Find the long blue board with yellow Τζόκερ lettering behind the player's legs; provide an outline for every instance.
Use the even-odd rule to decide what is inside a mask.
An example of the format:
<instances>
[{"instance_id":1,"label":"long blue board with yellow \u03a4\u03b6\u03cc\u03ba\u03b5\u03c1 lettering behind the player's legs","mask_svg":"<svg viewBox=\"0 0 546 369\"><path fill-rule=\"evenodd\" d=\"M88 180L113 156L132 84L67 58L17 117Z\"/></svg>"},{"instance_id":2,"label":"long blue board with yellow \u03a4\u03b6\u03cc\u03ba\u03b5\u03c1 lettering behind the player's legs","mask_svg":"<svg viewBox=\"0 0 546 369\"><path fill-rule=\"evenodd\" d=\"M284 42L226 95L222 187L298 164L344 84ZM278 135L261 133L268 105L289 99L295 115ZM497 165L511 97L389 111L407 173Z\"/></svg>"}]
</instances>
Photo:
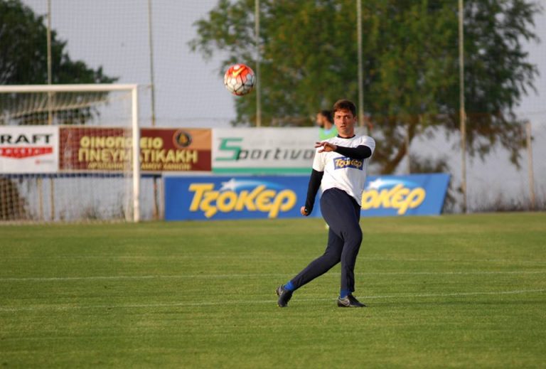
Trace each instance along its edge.
<instances>
[{"instance_id":1,"label":"long blue board with yellow \u03a4\u03b6\u03cc\u03ba\u03b5\u03c1 lettering behind the player's legs","mask_svg":"<svg viewBox=\"0 0 546 369\"><path fill-rule=\"evenodd\" d=\"M309 176L167 176L166 220L296 218ZM439 215L449 175L370 176L362 216ZM312 216L320 216L319 195Z\"/></svg>"}]
</instances>

